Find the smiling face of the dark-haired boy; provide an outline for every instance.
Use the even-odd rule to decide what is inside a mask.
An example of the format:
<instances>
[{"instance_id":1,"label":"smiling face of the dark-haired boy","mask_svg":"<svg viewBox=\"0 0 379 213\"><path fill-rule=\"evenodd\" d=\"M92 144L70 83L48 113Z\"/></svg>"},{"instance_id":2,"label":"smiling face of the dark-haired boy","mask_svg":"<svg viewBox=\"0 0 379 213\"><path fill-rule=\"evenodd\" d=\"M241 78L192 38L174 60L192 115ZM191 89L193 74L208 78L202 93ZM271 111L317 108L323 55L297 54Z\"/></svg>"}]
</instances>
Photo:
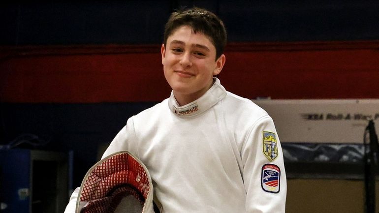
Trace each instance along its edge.
<instances>
[{"instance_id":1,"label":"smiling face of the dark-haired boy","mask_svg":"<svg viewBox=\"0 0 379 213\"><path fill-rule=\"evenodd\" d=\"M164 77L183 106L203 95L221 72L225 56L216 60L216 48L201 32L189 26L174 31L161 47Z\"/></svg>"}]
</instances>

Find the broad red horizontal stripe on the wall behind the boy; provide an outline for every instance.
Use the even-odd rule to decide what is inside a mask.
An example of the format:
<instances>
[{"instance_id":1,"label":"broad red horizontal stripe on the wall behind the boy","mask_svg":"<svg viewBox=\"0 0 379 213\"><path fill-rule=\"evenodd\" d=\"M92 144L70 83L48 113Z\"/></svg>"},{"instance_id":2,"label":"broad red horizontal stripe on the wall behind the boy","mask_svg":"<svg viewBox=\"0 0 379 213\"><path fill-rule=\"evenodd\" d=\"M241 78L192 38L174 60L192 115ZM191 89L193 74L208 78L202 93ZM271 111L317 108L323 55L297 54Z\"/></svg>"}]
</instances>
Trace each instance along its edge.
<instances>
[{"instance_id":1,"label":"broad red horizontal stripe on the wall behind the boy","mask_svg":"<svg viewBox=\"0 0 379 213\"><path fill-rule=\"evenodd\" d=\"M0 47L1 102L160 101L159 45ZM228 44L219 78L248 98L379 98L379 41Z\"/></svg>"}]
</instances>

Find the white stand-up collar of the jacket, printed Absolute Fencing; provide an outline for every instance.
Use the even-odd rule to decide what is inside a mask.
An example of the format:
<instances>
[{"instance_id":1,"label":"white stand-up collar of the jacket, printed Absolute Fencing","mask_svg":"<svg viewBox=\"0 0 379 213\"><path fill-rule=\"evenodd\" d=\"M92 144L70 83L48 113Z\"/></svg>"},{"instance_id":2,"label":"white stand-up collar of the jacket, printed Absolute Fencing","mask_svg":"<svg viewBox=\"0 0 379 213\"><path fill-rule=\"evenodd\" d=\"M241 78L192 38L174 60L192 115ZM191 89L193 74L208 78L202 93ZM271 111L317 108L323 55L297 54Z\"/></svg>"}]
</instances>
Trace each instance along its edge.
<instances>
[{"instance_id":1,"label":"white stand-up collar of the jacket, printed Absolute Fencing","mask_svg":"<svg viewBox=\"0 0 379 213\"><path fill-rule=\"evenodd\" d=\"M175 113L177 116L190 118L207 111L209 108L217 104L225 96L225 88L222 87L218 78L214 78L213 86L208 91L206 91L198 99L184 106L179 106L178 102L174 97L174 93L171 92L171 96L168 99L168 107L170 108L171 112Z\"/></svg>"}]
</instances>

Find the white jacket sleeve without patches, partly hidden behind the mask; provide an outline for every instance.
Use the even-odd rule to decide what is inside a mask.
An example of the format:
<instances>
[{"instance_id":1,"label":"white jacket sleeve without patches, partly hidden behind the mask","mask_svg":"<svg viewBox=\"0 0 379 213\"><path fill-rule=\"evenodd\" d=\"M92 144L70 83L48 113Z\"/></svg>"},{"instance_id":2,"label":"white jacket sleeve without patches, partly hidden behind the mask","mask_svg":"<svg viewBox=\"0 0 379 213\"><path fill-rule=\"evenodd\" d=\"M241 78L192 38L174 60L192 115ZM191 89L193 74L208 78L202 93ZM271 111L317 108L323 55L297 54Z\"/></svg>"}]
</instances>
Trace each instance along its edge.
<instances>
[{"instance_id":1,"label":"white jacket sleeve without patches, partly hidden behind the mask","mask_svg":"<svg viewBox=\"0 0 379 213\"><path fill-rule=\"evenodd\" d=\"M133 117L129 118L126 122L126 125L119 131L119 133L116 135L116 137L113 139L113 141L110 143L107 150L102 155L101 159L114 153L114 152L120 152L120 151L129 151L133 153L134 155L138 156L137 152L137 145L134 143L136 142L135 132L134 132L134 125L133 125ZM131 141L133 143L131 143ZM64 210L64 213L75 213L76 210L76 201L79 196L79 189L80 187L77 187L71 194L70 200L66 206L66 209Z\"/></svg>"}]
</instances>

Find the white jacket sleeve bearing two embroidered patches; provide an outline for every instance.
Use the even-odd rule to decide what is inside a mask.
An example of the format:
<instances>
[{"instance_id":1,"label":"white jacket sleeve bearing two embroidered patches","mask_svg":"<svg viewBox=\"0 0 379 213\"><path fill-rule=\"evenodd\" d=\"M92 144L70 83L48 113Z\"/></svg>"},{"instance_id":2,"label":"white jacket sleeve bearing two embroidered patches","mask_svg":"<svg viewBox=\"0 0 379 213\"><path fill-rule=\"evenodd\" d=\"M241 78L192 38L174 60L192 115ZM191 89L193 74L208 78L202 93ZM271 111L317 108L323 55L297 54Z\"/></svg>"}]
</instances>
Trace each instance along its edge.
<instances>
[{"instance_id":1,"label":"white jacket sleeve bearing two embroidered patches","mask_svg":"<svg viewBox=\"0 0 379 213\"><path fill-rule=\"evenodd\" d=\"M263 116L253 124L241 149L247 213L284 213L286 176L274 122Z\"/></svg>"}]
</instances>

